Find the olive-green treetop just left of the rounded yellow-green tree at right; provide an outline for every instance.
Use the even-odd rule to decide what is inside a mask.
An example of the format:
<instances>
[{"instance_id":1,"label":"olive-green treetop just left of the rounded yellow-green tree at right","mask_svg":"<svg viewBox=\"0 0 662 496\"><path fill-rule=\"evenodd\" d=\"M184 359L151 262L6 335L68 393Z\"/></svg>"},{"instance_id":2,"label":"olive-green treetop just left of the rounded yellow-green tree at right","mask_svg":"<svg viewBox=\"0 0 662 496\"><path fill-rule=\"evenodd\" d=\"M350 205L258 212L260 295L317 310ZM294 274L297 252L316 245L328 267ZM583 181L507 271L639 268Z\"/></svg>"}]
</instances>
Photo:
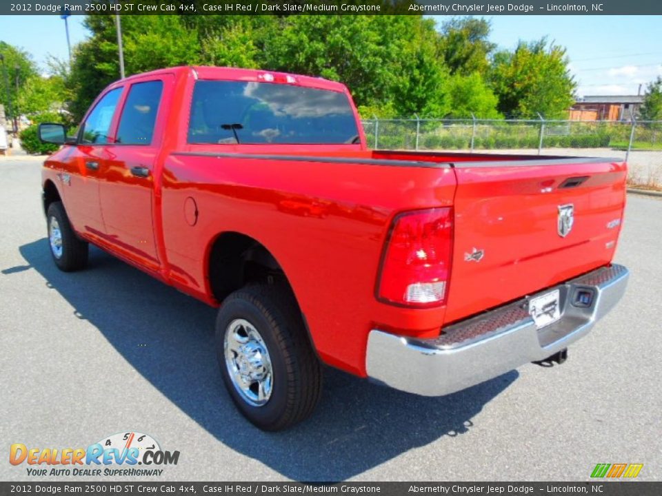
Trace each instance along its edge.
<instances>
[{"instance_id":1,"label":"olive-green treetop just left of the rounded yellow-green tree at right","mask_svg":"<svg viewBox=\"0 0 662 496\"><path fill-rule=\"evenodd\" d=\"M489 41L490 23L474 17L454 17L441 25L439 54L451 74L485 74L496 45Z\"/></svg>"}]
</instances>

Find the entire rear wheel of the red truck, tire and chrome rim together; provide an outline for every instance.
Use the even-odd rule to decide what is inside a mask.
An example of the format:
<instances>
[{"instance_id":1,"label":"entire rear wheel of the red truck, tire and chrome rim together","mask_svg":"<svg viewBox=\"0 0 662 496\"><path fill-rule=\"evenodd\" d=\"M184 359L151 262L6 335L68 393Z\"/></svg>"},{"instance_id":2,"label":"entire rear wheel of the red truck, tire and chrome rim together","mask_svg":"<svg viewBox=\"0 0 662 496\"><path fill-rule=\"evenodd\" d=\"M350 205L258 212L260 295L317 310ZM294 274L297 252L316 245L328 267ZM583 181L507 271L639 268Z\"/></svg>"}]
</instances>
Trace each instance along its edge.
<instances>
[{"instance_id":1,"label":"entire rear wheel of the red truck, tire and chrome rim together","mask_svg":"<svg viewBox=\"0 0 662 496\"><path fill-rule=\"evenodd\" d=\"M216 323L223 382L250 422L280 431L305 420L322 371L290 289L252 285L225 299Z\"/></svg>"}]
</instances>

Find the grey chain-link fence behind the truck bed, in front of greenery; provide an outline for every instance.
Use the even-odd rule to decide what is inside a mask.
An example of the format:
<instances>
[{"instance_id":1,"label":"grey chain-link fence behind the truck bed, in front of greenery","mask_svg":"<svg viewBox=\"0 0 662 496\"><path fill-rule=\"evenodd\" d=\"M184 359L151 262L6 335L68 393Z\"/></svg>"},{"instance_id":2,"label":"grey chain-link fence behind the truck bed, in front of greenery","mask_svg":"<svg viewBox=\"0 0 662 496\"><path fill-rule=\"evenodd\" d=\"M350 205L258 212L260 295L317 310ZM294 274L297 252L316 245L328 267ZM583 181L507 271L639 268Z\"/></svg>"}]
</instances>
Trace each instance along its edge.
<instances>
[{"instance_id":1,"label":"grey chain-link fence behind the truck bed, in front of greenery","mask_svg":"<svg viewBox=\"0 0 662 496\"><path fill-rule=\"evenodd\" d=\"M363 129L377 149L623 158L632 185L662 186L662 121L374 118Z\"/></svg>"}]
</instances>

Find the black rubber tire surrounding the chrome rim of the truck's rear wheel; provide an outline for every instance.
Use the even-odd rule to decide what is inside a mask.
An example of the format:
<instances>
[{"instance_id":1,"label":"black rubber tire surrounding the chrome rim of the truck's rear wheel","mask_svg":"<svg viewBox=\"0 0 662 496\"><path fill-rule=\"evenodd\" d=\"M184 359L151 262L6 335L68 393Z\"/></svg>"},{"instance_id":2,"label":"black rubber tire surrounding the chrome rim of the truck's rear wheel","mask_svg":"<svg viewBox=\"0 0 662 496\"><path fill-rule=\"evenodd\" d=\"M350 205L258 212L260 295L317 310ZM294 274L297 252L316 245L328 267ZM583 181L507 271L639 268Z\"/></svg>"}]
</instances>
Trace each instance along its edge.
<instances>
[{"instance_id":1,"label":"black rubber tire surrounding the chrome rim of the truck's rear wheel","mask_svg":"<svg viewBox=\"0 0 662 496\"><path fill-rule=\"evenodd\" d=\"M225 334L237 320L252 324L270 358L272 389L265 404L259 406L250 404L234 386L225 360ZM223 382L234 404L252 424L264 431L281 431L312 414L321 396L322 369L288 287L251 285L230 294L219 310L216 343Z\"/></svg>"}]
</instances>

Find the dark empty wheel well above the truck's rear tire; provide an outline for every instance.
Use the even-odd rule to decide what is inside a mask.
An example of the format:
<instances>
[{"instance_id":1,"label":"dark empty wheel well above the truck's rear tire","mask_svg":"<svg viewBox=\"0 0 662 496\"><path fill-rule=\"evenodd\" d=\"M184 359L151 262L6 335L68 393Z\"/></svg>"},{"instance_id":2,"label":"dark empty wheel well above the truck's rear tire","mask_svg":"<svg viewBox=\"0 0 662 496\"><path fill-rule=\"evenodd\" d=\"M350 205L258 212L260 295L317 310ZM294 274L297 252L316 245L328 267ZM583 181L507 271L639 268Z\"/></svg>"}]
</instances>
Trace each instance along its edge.
<instances>
[{"instance_id":1,"label":"dark empty wheel well above the truck's rear tire","mask_svg":"<svg viewBox=\"0 0 662 496\"><path fill-rule=\"evenodd\" d=\"M236 232L223 233L214 241L208 267L212 294L219 302L250 282L280 280L290 287L270 251L250 236Z\"/></svg>"}]
</instances>

